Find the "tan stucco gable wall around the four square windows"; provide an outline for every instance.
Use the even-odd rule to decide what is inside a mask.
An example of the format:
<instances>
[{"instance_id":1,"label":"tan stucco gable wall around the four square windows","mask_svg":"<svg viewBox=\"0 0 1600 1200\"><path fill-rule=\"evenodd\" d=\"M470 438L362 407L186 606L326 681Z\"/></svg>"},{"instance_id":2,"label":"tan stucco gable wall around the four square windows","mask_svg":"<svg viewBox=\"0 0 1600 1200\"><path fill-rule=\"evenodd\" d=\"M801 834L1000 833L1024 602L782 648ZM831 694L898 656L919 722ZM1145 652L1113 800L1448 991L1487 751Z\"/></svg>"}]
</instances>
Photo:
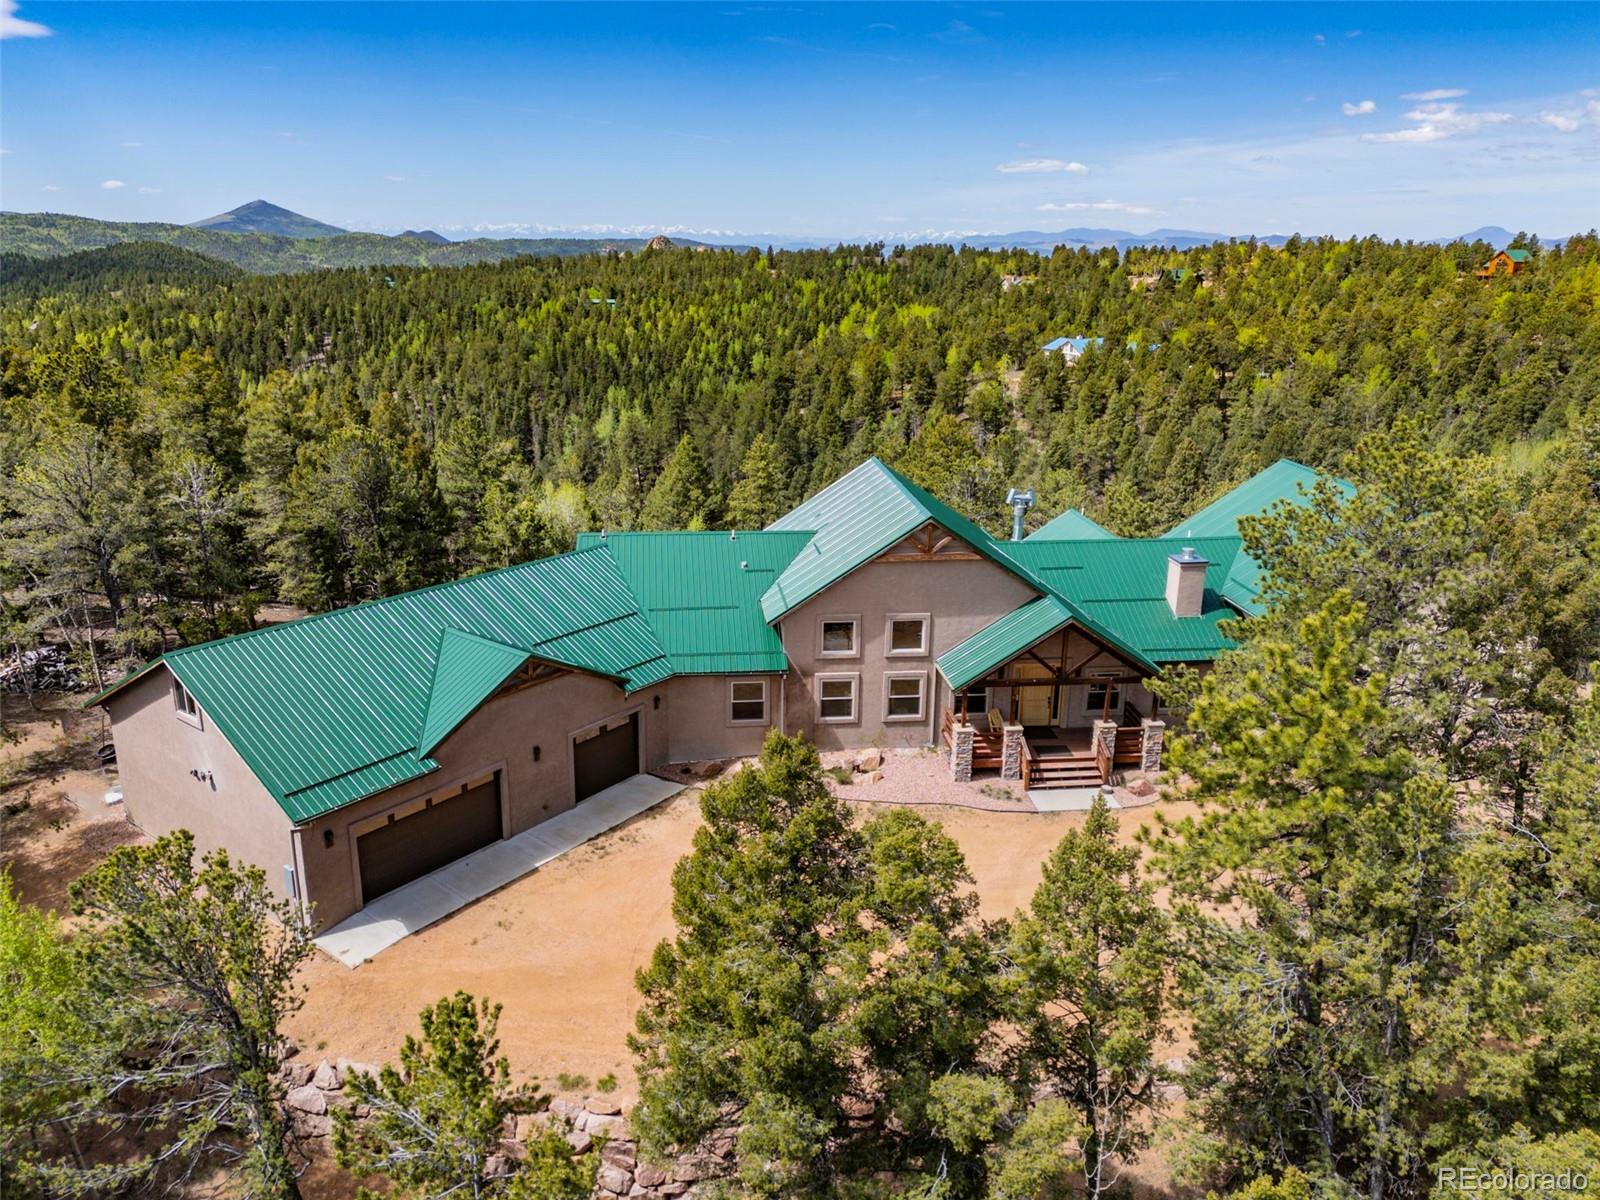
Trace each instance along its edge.
<instances>
[{"instance_id":1,"label":"tan stucco gable wall around the four square windows","mask_svg":"<svg viewBox=\"0 0 1600 1200\"><path fill-rule=\"evenodd\" d=\"M782 619L784 651L795 667L786 694L787 731L803 733L822 749L928 746L936 739L939 714L950 702L934 659L1034 595L1037 592L1032 587L987 558L864 563ZM926 654L885 654L891 613L930 614L933 629ZM859 656L842 659L818 654L821 621L827 616L859 616ZM926 712L918 722L883 718L883 677L885 672L898 670L928 672ZM818 720L818 672L859 672L858 717L853 723Z\"/></svg>"}]
</instances>

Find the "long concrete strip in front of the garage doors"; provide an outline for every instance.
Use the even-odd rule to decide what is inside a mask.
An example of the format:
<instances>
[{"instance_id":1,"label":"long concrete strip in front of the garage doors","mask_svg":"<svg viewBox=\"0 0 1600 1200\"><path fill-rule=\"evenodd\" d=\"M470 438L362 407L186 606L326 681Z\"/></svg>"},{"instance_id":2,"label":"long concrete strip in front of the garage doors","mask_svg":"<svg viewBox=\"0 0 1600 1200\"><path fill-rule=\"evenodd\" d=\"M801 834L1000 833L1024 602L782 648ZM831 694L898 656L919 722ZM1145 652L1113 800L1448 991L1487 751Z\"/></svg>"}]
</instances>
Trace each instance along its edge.
<instances>
[{"instance_id":1,"label":"long concrete strip in front of the garage doors","mask_svg":"<svg viewBox=\"0 0 1600 1200\"><path fill-rule=\"evenodd\" d=\"M541 821L533 829L475 850L379 896L320 934L315 942L346 966L360 966L402 938L504 888L682 790L680 782L635 774L603 792L595 792L576 808Z\"/></svg>"}]
</instances>

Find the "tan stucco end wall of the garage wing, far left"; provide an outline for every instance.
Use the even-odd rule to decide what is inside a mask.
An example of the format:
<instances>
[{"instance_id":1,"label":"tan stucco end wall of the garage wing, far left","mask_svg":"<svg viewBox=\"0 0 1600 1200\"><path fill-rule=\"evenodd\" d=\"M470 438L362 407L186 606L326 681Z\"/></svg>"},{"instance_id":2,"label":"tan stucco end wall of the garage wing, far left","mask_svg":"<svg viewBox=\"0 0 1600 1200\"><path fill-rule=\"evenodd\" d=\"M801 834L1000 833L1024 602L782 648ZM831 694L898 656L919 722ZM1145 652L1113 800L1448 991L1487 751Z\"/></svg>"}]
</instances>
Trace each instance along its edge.
<instances>
[{"instance_id":1,"label":"tan stucco end wall of the garage wing, far left","mask_svg":"<svg viewBox=\"0 0 1600 1200\"><path fill-rule=\"evenodd\" d=\"M198 728L178 715L171 672L157 667L106 709L130 819L152 837L187 829L198 851L227 850L286 896L283 867L294 861L288 816L203 710Z\"/></svg>"}]
</instances>

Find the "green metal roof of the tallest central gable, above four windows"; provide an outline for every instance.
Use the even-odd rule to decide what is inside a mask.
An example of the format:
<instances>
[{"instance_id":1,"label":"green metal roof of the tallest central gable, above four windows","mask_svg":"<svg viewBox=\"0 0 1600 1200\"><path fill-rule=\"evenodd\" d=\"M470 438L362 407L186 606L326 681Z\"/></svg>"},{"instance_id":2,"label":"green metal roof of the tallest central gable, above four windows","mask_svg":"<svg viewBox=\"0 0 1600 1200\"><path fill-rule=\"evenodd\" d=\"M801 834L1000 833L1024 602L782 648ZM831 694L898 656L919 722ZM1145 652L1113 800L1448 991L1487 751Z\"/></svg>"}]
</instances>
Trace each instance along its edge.
<instances>
[{"instance_id":1,"label":"green metal roof of the tallest central gable, above four windows","mask_svg":"<svg viewBox=\"0 0 1600 1200\"><path fill-rule=\"evenodd\" d=\"M762 614L768 621L778 621L926 522L936 522L990 562L1034 582L1027 570L1008 557L1003 547L1010 542L997 542L944 501L923 491L877 458L869 458L798 509L766 526L773 531L808 530L813 538L766 589L762 597Z\"/></svg>"}]
</instances>

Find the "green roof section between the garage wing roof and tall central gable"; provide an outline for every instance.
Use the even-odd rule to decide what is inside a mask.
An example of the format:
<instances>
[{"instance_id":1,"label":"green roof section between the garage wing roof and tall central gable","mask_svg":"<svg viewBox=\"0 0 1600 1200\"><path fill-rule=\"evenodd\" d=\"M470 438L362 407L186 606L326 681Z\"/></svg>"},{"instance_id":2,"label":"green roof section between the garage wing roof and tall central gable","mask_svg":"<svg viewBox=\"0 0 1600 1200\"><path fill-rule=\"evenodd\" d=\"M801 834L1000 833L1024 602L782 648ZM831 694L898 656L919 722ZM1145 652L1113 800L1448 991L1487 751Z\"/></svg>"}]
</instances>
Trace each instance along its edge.
<instances>
[{"instance_id":1,"label":"green roof section between the garage wing roof and tall central gable","mask_svg":"<svg viewBox=\"0 0 1600 1200\"><path fill-rule=\"evenodd\" d=\"M603 546L616 560L672 674L728 675L789 669L762 594L810 541L805 530L586 533L578 546Z\"/></svg>"}]
</instances>

